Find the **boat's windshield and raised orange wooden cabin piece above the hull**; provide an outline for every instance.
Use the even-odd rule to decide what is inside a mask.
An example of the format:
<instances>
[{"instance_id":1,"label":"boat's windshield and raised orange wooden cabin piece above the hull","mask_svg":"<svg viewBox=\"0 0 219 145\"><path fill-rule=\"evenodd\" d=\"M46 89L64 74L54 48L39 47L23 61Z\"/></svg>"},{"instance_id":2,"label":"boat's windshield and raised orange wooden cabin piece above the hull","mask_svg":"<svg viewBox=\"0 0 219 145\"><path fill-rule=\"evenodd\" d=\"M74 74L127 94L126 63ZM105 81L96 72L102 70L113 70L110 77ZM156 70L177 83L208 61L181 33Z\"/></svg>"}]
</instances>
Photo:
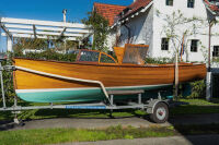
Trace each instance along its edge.
<instances>
[{"instance_id":1,"label":"boat's windshield and raised orange wooden cabin piece above the hull","mask_svg":"<svg viewBox=\"0 0 219 145\"><path fill-rule=\"evenodd\" d=\"M143 65L148 47L149 46L146 45L129 44L125 47L114 47L117 60L112 56L97 50L78 49L72 50L70 53L77 55L77 63Z\"/></svg>"}]
</instances>

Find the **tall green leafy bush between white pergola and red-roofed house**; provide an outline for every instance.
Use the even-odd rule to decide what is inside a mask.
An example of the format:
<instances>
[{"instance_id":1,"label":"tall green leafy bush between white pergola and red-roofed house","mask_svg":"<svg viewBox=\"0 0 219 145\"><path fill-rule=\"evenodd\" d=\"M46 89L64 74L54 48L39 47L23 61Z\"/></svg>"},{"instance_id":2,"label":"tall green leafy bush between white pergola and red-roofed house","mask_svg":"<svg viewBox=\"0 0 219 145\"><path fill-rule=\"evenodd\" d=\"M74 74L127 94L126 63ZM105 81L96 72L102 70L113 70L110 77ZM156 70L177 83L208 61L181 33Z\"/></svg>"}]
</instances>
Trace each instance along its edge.
<instances>
[{"instance_id":1,"label":"tall green leafy bush between white pergola and red-roofed house","mask_svg":"<svg viewBox=\"0 0 219 145\"><path fill-rule=\"evenodd\" d=\"M82 23L88 25L89 28L93 32L92 49L106 51L108 49L106 46L106 39L110 33L108 21L95 11L89 12L88 15L88 19L82 20Z\"/></svg>"}]
</instances>

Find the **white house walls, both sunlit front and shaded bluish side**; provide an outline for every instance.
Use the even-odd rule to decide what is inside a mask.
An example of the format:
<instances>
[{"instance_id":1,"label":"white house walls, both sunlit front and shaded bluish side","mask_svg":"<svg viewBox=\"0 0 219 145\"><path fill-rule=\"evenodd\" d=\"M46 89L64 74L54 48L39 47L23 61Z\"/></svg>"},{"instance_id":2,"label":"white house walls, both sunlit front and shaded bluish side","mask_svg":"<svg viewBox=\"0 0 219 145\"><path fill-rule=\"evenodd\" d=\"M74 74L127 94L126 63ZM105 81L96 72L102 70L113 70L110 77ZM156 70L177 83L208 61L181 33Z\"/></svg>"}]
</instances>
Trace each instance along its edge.
<instances>
[{"instance_id":1,"label":"white house walls, both sunlit front and shaded bluish side","mask_svg":"<svg viewBox=\"0 0 219 145\"><path fill-rule=\"evenodd\" d=\"M135 17L129 17L129 21L126 22L126 25L130 27L130 43L131 44L145 44L149 45L149 56L152 58L173 58L175 55L175 48L172 43L169 43L169 50L161 50L161 39L166 37L164 33L164 25L166 21L164 20L165 15L172 15L173 12L178 10L183 13L184 17L199 17L207 20L208 12L203 0L195 0L194 8L187 8L187 0L174 0L173 7L165 4L166 0L153 0L153 5L148 9L146 12L139 13ZM158 15L157 12L160 12ZM185 37L185 53L183 55L184 61L207 61L208 56L208 23L201 25L197 29L196 34ZM196 22L197 24L197 22ZM200 25L200 24L198 24ZM176 29L176 34L181 36L180 40L182 41L183 33L186 29L192 29L193 23L180 25ZM212 26L212 34L215 32L219 33L219 25ZM120 33L120 45L124 46L128 43L128 31L122 25L118 27ZM191 41L192 39L198 39L198 50L197 52L191 51ZM181 49L181 43L177 41L176 46ZM214 46L219 46L219 36L211 37L211 55Z\"/></svg>"}]
</instances>

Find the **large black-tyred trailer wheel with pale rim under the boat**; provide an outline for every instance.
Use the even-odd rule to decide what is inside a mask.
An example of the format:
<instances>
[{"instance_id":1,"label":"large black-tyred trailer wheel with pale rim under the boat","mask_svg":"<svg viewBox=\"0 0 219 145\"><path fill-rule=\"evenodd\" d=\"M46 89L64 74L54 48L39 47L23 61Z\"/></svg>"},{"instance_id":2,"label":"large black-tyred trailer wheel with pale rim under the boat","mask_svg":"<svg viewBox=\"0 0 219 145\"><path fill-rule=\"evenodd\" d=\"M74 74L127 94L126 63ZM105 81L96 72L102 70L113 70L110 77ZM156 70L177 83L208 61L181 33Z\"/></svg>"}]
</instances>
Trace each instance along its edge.
<instances>
[{"instance_id":1,"label":"large black-tyred trailer wheel with pale rim under the boat","mask_svg":"<svg viewBox=\"0 0 219 145\"><path fill-rule=\"evenodd\" d=\"M151 121L155 123L164 123L169 119L169 107L164 102L154 106L153 113L150 113Z\"/></svg>"}]
</instances>

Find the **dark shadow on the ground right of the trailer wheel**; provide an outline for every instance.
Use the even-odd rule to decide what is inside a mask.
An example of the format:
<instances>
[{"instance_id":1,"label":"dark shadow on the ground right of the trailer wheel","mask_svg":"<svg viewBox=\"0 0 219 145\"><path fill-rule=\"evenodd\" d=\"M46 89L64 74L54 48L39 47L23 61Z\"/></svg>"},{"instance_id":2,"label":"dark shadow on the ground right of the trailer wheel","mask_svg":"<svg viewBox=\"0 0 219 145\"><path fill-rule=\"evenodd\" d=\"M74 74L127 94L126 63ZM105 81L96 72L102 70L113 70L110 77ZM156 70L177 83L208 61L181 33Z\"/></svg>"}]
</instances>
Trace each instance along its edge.
<instances>
[{"instance_id":1,"label":"dark shadow on the ground right of the trailer wheel","mask_svg":"<svg viewBox=\"0 0 219 145\"><path fill-rule=\"evenodd\" d=\"M170 109L169 123L192 145L218 144L219 106L216 101L212 105L206 104L188 102ZM200 136L194 138L191 135Z\"/></svg>"}]
</instances>

